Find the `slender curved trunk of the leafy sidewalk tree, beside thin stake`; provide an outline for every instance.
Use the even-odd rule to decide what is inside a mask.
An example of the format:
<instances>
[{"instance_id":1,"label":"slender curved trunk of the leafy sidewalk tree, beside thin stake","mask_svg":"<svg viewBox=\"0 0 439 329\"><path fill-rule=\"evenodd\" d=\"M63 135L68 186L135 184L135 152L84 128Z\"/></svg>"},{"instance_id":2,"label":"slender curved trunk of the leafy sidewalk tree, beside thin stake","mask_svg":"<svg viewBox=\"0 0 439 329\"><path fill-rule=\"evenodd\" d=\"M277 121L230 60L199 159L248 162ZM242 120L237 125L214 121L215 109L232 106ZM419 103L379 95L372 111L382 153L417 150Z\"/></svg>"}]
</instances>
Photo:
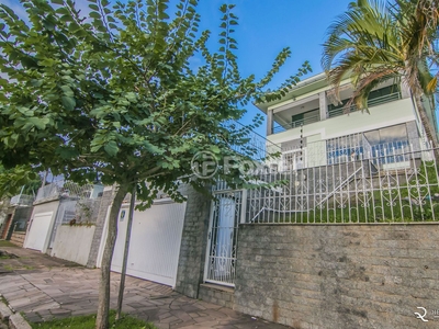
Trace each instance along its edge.
<instances>
[{"instance_id":1,"label":"slender curved trunk of the leafy sidewalk tree, beside thin stake","mask_svg":"<svg viewBox=\"0 0 439 329\"><path fill-rule=\"evenodd\" d=\"M106 236L105 247L103 249L101 277L99 281L99 305L97 315L97 329L109 328L109 310L110 310L110 269L113 258L114 245L117 237L117 217L122 202L128 191L127 185L120 185L111 205L109 216L109 232Z\"/></svg>"}]
</instances>

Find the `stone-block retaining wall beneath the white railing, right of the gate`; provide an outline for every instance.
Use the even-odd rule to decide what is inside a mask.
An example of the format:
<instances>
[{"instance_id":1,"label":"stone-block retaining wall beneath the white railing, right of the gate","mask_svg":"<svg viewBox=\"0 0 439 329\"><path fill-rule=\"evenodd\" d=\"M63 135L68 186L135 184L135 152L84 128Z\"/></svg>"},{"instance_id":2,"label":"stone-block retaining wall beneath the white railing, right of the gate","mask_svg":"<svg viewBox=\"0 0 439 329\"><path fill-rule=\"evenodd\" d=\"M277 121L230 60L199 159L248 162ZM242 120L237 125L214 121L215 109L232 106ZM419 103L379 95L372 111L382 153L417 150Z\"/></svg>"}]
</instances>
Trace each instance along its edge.
<instances>
[{"instance_id":1,"label":"stone-block retaining wall beneath the white railing, right of the gate","mask_svg":"<svg viewBox=\"0 0 439 329\"><path fill-rule=\"evenodd\" d=\"M234 308L292 328L438 328L438 247L436 224L243 225Z\"/></svg>"}]
</instances>

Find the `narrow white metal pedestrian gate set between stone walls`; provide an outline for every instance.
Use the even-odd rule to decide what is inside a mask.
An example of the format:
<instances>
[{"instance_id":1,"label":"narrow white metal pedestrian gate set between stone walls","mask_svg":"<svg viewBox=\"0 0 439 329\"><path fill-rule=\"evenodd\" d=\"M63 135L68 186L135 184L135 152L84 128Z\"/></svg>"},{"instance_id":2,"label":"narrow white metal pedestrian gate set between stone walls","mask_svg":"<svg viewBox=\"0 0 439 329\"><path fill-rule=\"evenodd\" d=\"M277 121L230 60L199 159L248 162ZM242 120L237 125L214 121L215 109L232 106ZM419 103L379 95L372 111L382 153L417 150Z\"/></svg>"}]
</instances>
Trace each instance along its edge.
<instances>
[{"instance_id":1,"label":"narrow white metal pedestrian gate set between stone walls","mask_svg":"<svg viewBox=\"0 0 439 329\"><path fill-rule=\"evenodd\" d=\"M204 281L234 286L239 219L245 213L243 191L215 193L209 228Z\"/></svg>"}]
</instances>

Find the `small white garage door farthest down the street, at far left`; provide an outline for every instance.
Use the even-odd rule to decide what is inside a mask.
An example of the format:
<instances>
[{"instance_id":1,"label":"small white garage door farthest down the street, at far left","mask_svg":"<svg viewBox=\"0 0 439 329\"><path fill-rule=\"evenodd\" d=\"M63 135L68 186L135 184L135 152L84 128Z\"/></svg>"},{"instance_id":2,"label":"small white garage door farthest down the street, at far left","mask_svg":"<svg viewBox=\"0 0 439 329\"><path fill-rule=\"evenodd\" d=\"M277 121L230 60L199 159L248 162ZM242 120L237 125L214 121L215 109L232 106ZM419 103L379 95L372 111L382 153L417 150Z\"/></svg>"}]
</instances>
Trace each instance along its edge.
<instances>
[{"instance_id":1,"label":"small white garage door farthest down the street, at far left","mask_svg":"<svg viewBox=\"0 0 439 329\"><path fill-rule=\"evenodd\" d=\"M32 219L24 248L42 251L49 234L54 212L35 214Z\"/></svg>"}]
</instances>

